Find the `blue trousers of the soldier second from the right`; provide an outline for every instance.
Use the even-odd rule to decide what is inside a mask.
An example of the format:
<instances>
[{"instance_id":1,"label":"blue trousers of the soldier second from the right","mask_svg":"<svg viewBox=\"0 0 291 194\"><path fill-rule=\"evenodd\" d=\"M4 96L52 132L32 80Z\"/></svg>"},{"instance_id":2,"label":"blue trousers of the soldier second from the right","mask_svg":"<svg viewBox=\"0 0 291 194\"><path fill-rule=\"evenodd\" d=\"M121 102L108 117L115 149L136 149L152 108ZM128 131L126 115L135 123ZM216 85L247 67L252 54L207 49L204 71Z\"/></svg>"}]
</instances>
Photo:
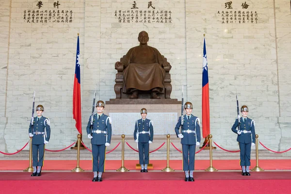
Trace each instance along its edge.
<instances>
[{"instance_id":1,"label":"blue trousers of the soldier second from the right","mask_svg":"<svg viewBox=\"0 0 291 194\"><path fill-rule=\"evenodd\" d=\"M195 144L193 145L182 144L183 171L194 170L195 148L196 148ZM189 162L188 162L188 156L189 156Z\"/></svg>"}]
</instances>

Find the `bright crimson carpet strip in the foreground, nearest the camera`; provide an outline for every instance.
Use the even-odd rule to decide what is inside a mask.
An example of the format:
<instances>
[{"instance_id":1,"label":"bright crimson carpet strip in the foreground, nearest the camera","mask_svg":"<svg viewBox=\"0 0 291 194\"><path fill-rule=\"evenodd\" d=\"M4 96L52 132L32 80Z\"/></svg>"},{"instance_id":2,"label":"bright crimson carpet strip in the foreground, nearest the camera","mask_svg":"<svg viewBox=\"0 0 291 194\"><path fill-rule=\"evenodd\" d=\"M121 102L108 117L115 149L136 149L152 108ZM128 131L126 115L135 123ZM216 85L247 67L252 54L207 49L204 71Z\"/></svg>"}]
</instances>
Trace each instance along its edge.
<instances>
[{"instance_id":1,"label":"bright crimson carpet strip in the foreground, nearest the camera","mask_svg":"<svg viewBox=\"0 0 291 194\"><path fill-rule=\"evenodd\" d=\"M2 180L0 194L283 194L290 180ZM37 182L38 183L38 182Z\"/></svg>"}]
</instances>

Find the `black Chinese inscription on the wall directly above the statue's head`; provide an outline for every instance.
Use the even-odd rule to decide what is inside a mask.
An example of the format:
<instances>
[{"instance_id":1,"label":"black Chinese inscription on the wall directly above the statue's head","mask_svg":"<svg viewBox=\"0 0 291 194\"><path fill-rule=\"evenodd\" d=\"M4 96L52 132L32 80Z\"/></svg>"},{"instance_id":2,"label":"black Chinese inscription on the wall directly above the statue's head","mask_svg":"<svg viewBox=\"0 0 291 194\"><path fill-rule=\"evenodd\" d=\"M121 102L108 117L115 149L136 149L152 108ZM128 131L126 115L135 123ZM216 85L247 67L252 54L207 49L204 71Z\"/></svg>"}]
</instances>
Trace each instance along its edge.
<instances>
[{"instance_id":1,"label":"black Chinese inscription on the wall directly above the statue's head","mask_svg":"<svg viewBox=\"0 0 291 194\"><path fill-rule=\"evenodd\" d=\"M172 12L156 10L152 1L148 2L147 10L140 10L133 1L130 10L115 10L114 16L119 23L172 23Z\"/></svg>"}]
</instances>

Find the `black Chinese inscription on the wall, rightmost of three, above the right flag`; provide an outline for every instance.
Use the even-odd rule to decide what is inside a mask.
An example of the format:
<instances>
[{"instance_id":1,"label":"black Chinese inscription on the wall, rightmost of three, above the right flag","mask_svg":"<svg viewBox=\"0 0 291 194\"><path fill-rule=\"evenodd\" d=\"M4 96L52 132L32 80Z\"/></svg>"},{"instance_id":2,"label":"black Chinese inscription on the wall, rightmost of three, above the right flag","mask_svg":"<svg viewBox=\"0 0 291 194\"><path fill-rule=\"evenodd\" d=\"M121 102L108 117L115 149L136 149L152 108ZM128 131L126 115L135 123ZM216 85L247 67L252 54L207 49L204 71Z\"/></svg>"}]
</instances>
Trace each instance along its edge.
<instances>
[{"instance_id":1,"label":"black Chinese inscription on the wall, rightmost of three, above the right flag","mask_svg":"<svg viewBox=\"0 0 291 194\"><path fill-rule=\"evenodd\" d=\"M244 1L241 5L242 10L233 10L232 1L225 3L225 9L223 11L218 11L217 14L221 15L223 24L229 23L258 23L258 13L257 11L248 11L249 5Z\"/></svg>"}]
</instances>

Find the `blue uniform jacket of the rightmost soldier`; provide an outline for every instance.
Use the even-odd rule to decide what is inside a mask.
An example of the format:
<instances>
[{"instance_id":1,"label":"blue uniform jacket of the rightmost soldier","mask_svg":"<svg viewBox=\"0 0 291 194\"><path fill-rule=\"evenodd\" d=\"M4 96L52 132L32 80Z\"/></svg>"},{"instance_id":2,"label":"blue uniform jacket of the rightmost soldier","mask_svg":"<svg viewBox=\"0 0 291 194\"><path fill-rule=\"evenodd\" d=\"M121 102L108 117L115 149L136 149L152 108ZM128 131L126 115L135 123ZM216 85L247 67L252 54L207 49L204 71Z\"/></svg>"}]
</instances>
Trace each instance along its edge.
<instances>
[{"instance_id":1,"label":"blue uniform jacket of the rightmost soldier","mask_svg":"<svg viewBox=\"0 0 291 194\"><path fill-rule=\"evenodd\" d=\"M249 144L249 143L255 143L255 121L250 119L250 118L246 118L246 121L243 122L243 119L240 118L241 120L241 131L242 133L240 135L238 135L237 141L240 143L244 143L244 144ZM238 132L238 127L239 122L238 119L235 120L231 130L233 132L235 132L237 134Z\"/></svg>"}]
</instances>

